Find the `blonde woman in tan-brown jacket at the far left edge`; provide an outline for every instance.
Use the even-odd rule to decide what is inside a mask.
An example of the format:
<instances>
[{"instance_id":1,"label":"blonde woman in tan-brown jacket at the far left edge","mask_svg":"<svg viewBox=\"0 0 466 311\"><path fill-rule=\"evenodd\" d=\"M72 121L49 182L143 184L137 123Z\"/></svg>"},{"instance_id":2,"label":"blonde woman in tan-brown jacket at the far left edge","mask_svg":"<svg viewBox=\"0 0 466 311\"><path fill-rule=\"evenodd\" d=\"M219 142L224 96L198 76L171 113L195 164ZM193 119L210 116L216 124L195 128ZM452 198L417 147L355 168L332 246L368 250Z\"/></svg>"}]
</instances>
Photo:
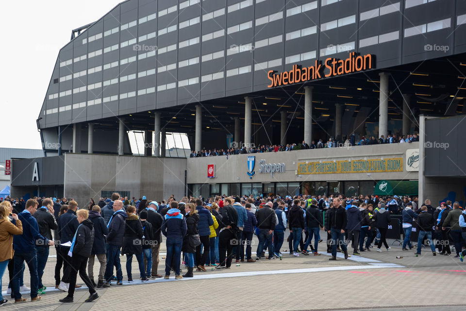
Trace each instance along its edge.
<instances>
[{"instance_id":1,"label":"blonde woman in tan-brown jacket at the far left edge","mask_svg":"<svg viewBox=\"0 0 466 311\"><path fill-rule=\"evenodd\" d=\"M10 259L13 258L13 235L23 234L23 225L21 221L18 220L18 215L11 215L15 220L15 224L10 220L10 209L10 202L2 202L0 204L0 289L3 273ZM3 295L0 291L0 306L7 302L8 300L3 299Z\"/></svg>"}]
</instances>

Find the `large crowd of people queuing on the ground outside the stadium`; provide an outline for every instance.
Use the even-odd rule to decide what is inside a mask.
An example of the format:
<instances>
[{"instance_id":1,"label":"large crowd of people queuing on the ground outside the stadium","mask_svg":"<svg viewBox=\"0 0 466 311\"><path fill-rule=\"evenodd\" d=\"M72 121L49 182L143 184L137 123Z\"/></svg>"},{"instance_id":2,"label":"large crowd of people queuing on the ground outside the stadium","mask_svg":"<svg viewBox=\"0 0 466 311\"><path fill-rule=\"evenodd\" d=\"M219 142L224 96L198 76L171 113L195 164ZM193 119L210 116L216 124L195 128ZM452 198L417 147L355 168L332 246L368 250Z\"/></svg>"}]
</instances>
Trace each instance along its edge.
<instances>
[{"instance_id":1,"label":"large crowd of people queuing on the ground outside the stadium","mask_svg":"<svg viewBox=\"0 0 466 311\"><path fill-rule=\"evenodd\" d=\"M145 196L129 200L113 193L111 198L91 199L78 208L73 199L33 198L24 203L7 197L0 203L0 281L9 272L8 294L15 303L27 301L21 292L30 291L31 301L46 293L42 282L50 246L57 261L54 269L55 288L67 292L60 302L73 302L77 275L88 288L86 302L99 297L96 288L122 285L120 256L126 255L126 275L133 282L133 255L138 262L141 282L164 277L194 277L194 271L206 267L229 269L233 260L255 262L282 258L285 233L289 253L320 256L320 231L327 233L329 260L337 260L337 252L349 257L371 251L373 246L389 250L386 242L393 215L400 214L405 232L403 250L412 249L412 227L419 231L416 255L424 240L433 255L451 254L450 240L457 258L463 261L466 250L466 212L458 202L444 202L434 208L429 200L419 207L417 198L398 196L213 196L183 197L179 202L171 196L160 204ZM13 204L12 204L13 203ZM53 236L52 236L53 232ZM258 237L255 259L252 238ZM162 235L166 240L164 276L158 273ZM433 242L433 237L435 242ZM313 242L314 239L314 242ZM375 244L373 242L375 240ZM308 250L310 248L310 250ZM266 250L268 249L268 255ZM121 255L120 255L121 253ZM94 278L97 257L99 273ZM31 276L31 288L24 285L25 263ZM186 273L182 273L182 264ZM115 269L114 269L115 268ZM63 273L62 273L63 271ZM112 283L114 282L114 283ZM1 288L1 283L0 283ZM8 300L0 292L0 305Z\"/></svg>"}]
</instances>

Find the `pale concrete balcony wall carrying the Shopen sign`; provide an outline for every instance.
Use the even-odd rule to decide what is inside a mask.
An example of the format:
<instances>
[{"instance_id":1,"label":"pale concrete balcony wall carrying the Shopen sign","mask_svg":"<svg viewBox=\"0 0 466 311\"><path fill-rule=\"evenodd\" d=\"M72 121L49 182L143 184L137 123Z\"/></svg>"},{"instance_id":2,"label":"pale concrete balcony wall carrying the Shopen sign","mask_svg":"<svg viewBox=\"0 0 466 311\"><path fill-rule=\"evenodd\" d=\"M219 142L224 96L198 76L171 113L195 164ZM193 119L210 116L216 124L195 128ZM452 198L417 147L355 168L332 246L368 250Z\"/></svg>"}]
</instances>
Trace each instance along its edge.
<instances>
[{"instance_id":1,"label":"pale concrete balcony wall carrying the Shopen sign","mask_svg":"<svg viewBox=\"0 0 466 311\"><path fill-rule=\"evenodd\" d=\"M354 146L340 148L324 148L313 150L283 151L255 155L255 175L250 178L248 171L248 155L226 155L188 158L187 183L243 183L243 182L303 182L303 181L344 181L344 180L408 180L418 179L418 172L406 171L406 150L419 148L419 143L397 143L370 146ZM339 161L372 158L403 158L403 172L394 173L329 173L298 175L298 163L305 161ZM259 173L259 163L262 159L266 164L284 163L284 173ZM207 165L215 164L216 178L207 178Z\"/></svg>"}]
</instances>

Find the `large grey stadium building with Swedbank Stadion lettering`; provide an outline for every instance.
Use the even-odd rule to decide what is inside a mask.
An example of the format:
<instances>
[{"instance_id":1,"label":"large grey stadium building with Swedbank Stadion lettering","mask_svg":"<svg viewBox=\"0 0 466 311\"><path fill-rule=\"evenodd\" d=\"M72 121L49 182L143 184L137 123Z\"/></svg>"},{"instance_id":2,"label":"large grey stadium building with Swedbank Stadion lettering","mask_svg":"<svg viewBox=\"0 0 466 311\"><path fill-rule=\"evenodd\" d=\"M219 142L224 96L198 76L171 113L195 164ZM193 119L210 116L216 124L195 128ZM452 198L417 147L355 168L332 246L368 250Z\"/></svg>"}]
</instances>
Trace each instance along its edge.
<instances>
[{"instance_id":1,"label":"large grey stadium building with Swedbank Stadion lettering","mask_svg":"<svg viewBox=\"0 0 466 311\"><path fill-rule=\"evenodd\" d=\"M124 1L59 51L37 119L47 156L13 161L12 194L368 194L381 181L419 181L404 188L465 200L454 158L465 30L464 0ZM144 133L145 156L133 132ZM195 151L352 133L419 142L174 159L167 133ZM264 174L250 175L251 162ZM31 178L36 165L50 176Z\"/></svg>"}]
</instances>

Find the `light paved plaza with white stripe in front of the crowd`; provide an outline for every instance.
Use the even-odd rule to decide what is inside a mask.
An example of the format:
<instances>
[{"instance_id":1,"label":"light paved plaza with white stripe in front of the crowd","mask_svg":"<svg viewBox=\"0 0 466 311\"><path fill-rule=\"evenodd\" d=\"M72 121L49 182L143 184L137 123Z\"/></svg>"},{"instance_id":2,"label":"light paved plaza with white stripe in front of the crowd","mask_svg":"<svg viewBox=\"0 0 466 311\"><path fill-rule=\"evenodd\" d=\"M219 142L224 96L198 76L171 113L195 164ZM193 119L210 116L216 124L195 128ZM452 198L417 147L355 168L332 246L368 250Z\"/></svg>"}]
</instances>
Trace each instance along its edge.
<instances>
[{"instance_id":1,"label":"light paved plaza with white stripe in front of the crowd","mask_svg":"<svg viewBox=\"0 0 466 311\"><path fill-rule=\"evenodd\" d=\"M326 237L321 231L321 236ZM286 235L285 235L286 236ZM165 239L164 239L165 241ZM257 245L257 239L253 242ZM389 240L391 244L393 240ZM282 247L283 260L259 260L254 263L232 264L230 270L195 272L194 278L175 280L156 279L140 284L126 282L126 257L121 256L123 286L98 289L100 298L84 303L88 292L75 292L74 303L58 301L65 293L54 289L54 250L44 273L47 294L39 302L10 303L8 310L465 310L461 293L466 277L466 263L448 256L432 256L424 248L416 257L415 251L402 251L398 242L390 251L382 253L372 248L361 256L348 260L329 261L325 240L319 244L321 256L299 258L288 254L288 244ZM255 246L253 246L253 251ZM285 252L286 250L286 252ZM323 253L322 253L323 252ZM158 272L164 275L165 244L162 244ZM350 252L351 254L351 252ZM403 258L398 259L397 256ZM253 256L255 258L255 256ZM139 273L133 259L133 278ZM183 269L185 271L185 269ZM183 272L184 272L183 271ZM8 283L3 276L3 293ZM95 267L95 278L98 270ZM27 269L24 275L29 286ZM97 279L96 279L97 280ZM83 282L78 277L78 284ZM84 287L84 286L83 286ZM50 289L50 290L49 290ZM28 298L29 294L24 294Z\"/></svg>"}]
</instances>

